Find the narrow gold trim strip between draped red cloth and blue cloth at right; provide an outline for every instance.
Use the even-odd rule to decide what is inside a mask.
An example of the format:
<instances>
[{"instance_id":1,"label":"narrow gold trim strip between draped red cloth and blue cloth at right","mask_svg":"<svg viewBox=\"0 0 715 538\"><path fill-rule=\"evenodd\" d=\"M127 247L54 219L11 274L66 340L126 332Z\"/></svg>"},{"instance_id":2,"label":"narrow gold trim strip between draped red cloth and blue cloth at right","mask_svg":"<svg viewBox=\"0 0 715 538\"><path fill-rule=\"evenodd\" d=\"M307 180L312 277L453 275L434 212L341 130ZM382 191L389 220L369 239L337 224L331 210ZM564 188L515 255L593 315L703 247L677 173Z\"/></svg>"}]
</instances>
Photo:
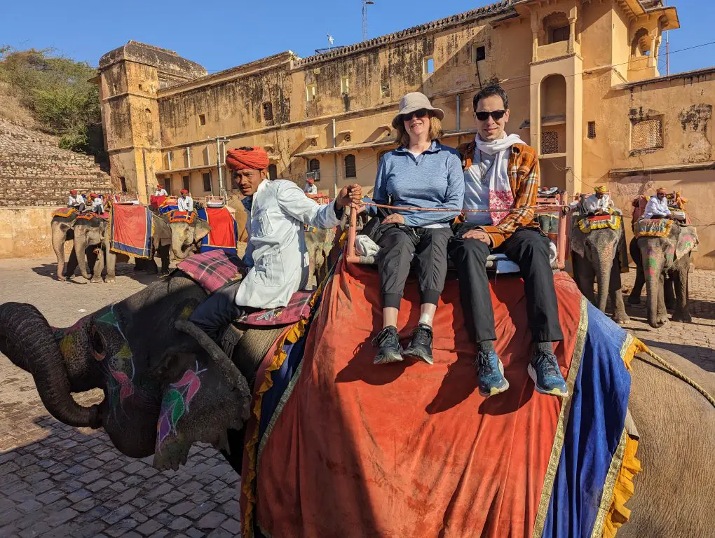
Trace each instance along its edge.
<instances>
[{"instance_id":1,"label":"narrow gold trim strip between draped red cloth and blue cloth at right","mask_svg":"<svg viewBox=\"0 0 715 538\"><path fill-rule=\"evenodd\" d=\"M543 526L546 524L546 514L548 505L551 502L551 494L553 493L553 480L556 478L558 470L558 460L561 459L561 450L563 449L563 439L566 435L566 424L568 424L568 415L571 412L571 397L573 396L573 385L576 384L578 370L581 368L581 358L583 357L583 346L586 344L586 332L588 330L588 299L581 296L581 317L578 320L578 331L576 332L576 347L573 348L573 356L571 357L571 366L568 368L568 378L566 385L568 386L568 397L563 399L561 403L561 412L558 415L558 424L556 426L556 436L553 439L553 447L551 447L551 457L548 459L548 467L546 467L546 477L543 479L543 489L541 489L541 499L539 500L538 511L536 512L536 521L531 536L533 538L541 538L543 535Z\"/></svg>"}]
</instances>

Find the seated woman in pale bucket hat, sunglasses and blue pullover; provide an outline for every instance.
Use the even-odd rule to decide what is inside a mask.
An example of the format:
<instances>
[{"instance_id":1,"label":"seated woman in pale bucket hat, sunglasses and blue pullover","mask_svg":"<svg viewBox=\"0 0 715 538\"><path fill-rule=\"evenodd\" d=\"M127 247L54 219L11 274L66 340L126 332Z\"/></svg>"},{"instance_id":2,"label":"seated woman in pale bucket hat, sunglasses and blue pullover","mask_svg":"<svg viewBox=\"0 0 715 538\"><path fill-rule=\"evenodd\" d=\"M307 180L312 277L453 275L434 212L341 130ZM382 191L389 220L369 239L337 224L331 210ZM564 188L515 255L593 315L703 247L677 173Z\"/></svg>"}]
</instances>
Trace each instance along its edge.
<instances>
[{"instance_id":1,"label":"seated woman in pale bucket hat, sunglasses and blue pullover","mask_svg":"<svg viewBox=\"0 0 715 538\"><path fill-rule=\"evenodd\" d=\"M376 203L453 211L378 211L383 330L373 340L380 349L375 364L403 360L397 321L413 256L418 266L420 322L404 354L433 362L432 321L447 274L450 221L460 214L464 196L459 154L438 140L443 118L444 111L432 106L424 94L405 95L393 119L400 147L380 160Z\"/></svg>"}]
</instances>

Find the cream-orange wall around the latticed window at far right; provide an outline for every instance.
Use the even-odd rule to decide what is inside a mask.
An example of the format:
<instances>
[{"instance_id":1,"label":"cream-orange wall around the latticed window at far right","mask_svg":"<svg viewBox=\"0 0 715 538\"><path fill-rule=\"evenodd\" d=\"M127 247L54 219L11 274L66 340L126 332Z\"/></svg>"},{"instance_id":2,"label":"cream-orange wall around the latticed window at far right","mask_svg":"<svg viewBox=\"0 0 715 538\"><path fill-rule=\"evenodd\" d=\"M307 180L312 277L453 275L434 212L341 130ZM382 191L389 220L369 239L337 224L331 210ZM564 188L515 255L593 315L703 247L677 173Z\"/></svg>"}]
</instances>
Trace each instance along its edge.
<instances>
[{"instance_id":1,"label":"cream-orange wall around the latticed window at far right","mask_svg":"<svg viewBox=\"0 0 715 538\"><path fill-rule=\"evenodd\" d=\"M715 209L711 203L715 171L658 173L659 167L707 164L715 160L715 74L611 90L610 76L592 76L584 84L588 103L583 131L583 190L608 184L627 208L638 194L654 187L678 187L690 200L687 209L699 228L702 246L696 266L715 269ZM631 117L662 116L664 147L631 154ZM586 121L596 121L596 139L586 138ZM610 178L611 169L633 169L631 176ZM638 169L653 169L649 176Z\"/></svg>"}]
</instances>

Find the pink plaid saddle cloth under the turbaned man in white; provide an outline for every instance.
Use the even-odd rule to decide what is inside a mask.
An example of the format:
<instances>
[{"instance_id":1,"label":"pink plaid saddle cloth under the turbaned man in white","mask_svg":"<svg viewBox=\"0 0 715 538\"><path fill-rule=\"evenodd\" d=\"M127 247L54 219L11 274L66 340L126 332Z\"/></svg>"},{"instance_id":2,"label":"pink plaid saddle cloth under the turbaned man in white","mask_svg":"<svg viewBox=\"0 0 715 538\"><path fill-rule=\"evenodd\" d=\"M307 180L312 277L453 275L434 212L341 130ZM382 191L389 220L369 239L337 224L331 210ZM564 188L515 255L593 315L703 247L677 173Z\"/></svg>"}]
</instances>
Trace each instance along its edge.
<instances>
[{"instance_id":1,"label":"pink plaid saddle cloth under the turbaned man in white","mask_svg":"<svg viewBox=\"0 0 715 538\"><path fill-rule=\"evenodd\" d=\"M194 254L179 261L177 267L211 294L227 282L241 278L246 268L243 262L223 250L210 250ZM310 317L312 292L295 292L285 307L259 310L237 319L236 322L252 327L278 327Z\"/></svg>"}]
</instances>

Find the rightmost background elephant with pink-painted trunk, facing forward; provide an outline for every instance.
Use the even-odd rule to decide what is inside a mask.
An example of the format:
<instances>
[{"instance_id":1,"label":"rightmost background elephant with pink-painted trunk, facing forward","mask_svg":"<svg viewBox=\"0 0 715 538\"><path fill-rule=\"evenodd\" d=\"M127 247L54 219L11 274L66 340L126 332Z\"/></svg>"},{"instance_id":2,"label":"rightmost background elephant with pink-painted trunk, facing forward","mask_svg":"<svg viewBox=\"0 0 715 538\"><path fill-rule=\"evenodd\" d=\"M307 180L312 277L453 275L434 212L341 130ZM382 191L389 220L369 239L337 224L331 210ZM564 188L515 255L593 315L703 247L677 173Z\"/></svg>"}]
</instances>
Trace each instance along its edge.
<instances>
[{"instance_id":1,"label":"rightmost background elephant with pink-painted trunk, facing forward","mask_svg":"<svg viewBox=\"0 0 715 538\"><path fill-rule=\"evenodd\" d=\"M667 236L646 236L631 241L631 256L638 272L628 302L640 302L645 284L651 327L657 329L668 322L667 306L671 302L674 304L674 322L692 321L688 304L688 274L690 253L697 243L695 229L677 221L672 221Z\"/></svg>"}]
</instances>

